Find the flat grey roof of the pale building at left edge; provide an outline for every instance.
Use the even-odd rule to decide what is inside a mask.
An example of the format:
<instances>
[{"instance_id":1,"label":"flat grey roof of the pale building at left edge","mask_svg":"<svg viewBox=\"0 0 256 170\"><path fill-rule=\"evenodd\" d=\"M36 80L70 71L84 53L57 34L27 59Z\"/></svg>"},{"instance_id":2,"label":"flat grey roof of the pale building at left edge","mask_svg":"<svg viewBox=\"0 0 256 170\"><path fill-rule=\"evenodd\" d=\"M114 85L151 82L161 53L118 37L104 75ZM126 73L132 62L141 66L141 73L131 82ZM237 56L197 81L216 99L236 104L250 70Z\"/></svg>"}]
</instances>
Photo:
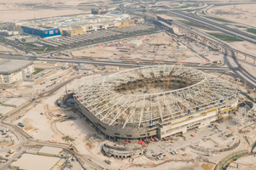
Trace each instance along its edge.
<instances>
[{"instance_id":1,"label":"flat grey roof of the pale building at left edge","mask_svg":"<svg viewBox=\"0 0 256 170\"><path fill-rule=\"evenodd\" d=\"M0 74L10 74L15 71L20 71L29 65L32 61L20 59L0 59Z\"/></svg>"}]
</instances>

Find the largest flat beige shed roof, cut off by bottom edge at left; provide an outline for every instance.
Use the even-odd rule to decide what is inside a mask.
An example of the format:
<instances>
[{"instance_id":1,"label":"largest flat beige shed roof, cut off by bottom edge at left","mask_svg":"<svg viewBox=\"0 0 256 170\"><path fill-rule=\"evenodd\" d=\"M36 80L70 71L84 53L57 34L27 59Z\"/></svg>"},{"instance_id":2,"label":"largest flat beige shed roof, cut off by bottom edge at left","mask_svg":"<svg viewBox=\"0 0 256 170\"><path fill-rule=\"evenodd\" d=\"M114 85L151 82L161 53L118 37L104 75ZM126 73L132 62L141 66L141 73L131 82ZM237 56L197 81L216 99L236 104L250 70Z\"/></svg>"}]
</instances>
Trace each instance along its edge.
<instances>
[{"instance_id":1,"label":"largest flat beige shed roof, cut off by bottom edge at left","mask_svg":"<svg viewBox=\"0 0 256 170\"><path fill-rule=\"evenodd\" d=\"M62 161L59 157L23 154L20 159L14 161L10 167L18 167L24 170L48 170L54 167L59 161Z\"/></svg>"}]
</instances>

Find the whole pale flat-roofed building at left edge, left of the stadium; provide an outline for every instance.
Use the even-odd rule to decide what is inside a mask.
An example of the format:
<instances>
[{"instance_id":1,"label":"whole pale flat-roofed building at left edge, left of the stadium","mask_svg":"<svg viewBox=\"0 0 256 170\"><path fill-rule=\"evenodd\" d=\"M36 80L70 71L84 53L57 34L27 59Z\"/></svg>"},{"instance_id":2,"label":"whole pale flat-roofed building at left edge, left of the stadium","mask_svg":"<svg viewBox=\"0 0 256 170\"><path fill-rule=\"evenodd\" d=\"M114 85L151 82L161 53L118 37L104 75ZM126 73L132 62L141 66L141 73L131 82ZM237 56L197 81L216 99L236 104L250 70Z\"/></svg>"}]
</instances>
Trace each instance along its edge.
<instances>
[{"instance_id":1,"label":"whole pale flat-roofed building at left edge, left of the stadium","mask_svg":"<svg viewBox=\"0 0 256 170\"><path fill-rule=\"evenodd\" d=\"M20 59L0 59L0 83L20 82L32 76L32 61Z\"/></svg>"}]
</instances>

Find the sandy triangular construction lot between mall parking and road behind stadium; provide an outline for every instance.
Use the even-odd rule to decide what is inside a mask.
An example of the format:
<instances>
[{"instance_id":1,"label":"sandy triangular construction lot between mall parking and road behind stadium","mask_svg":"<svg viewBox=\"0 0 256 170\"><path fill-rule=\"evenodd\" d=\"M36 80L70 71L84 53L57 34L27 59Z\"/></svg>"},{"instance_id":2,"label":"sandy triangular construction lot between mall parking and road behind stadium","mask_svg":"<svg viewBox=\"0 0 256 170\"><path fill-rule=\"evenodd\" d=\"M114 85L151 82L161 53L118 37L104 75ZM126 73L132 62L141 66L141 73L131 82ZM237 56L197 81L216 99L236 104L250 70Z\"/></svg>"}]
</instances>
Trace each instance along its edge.
<instances>
[{"instance_id":1,"label":"sandy triangular construction lot between mall parking and road behind stadium","mask_svg":"<svg viewBox=\"0 0 256 170\"><path fill-rule=\"evenodd\" d=\"M77 48L70 52L76 59L115 60L118 62L166 63L187 65L212 65L223 63L223 54L183 37L173 37L166 32L120 41L99 43L94 47ZM70 53L66 52L65 54ZM55 55L60 57L59 55ZM214 63L213 63L214 64Z\"/></svg>"}]
</instances>

